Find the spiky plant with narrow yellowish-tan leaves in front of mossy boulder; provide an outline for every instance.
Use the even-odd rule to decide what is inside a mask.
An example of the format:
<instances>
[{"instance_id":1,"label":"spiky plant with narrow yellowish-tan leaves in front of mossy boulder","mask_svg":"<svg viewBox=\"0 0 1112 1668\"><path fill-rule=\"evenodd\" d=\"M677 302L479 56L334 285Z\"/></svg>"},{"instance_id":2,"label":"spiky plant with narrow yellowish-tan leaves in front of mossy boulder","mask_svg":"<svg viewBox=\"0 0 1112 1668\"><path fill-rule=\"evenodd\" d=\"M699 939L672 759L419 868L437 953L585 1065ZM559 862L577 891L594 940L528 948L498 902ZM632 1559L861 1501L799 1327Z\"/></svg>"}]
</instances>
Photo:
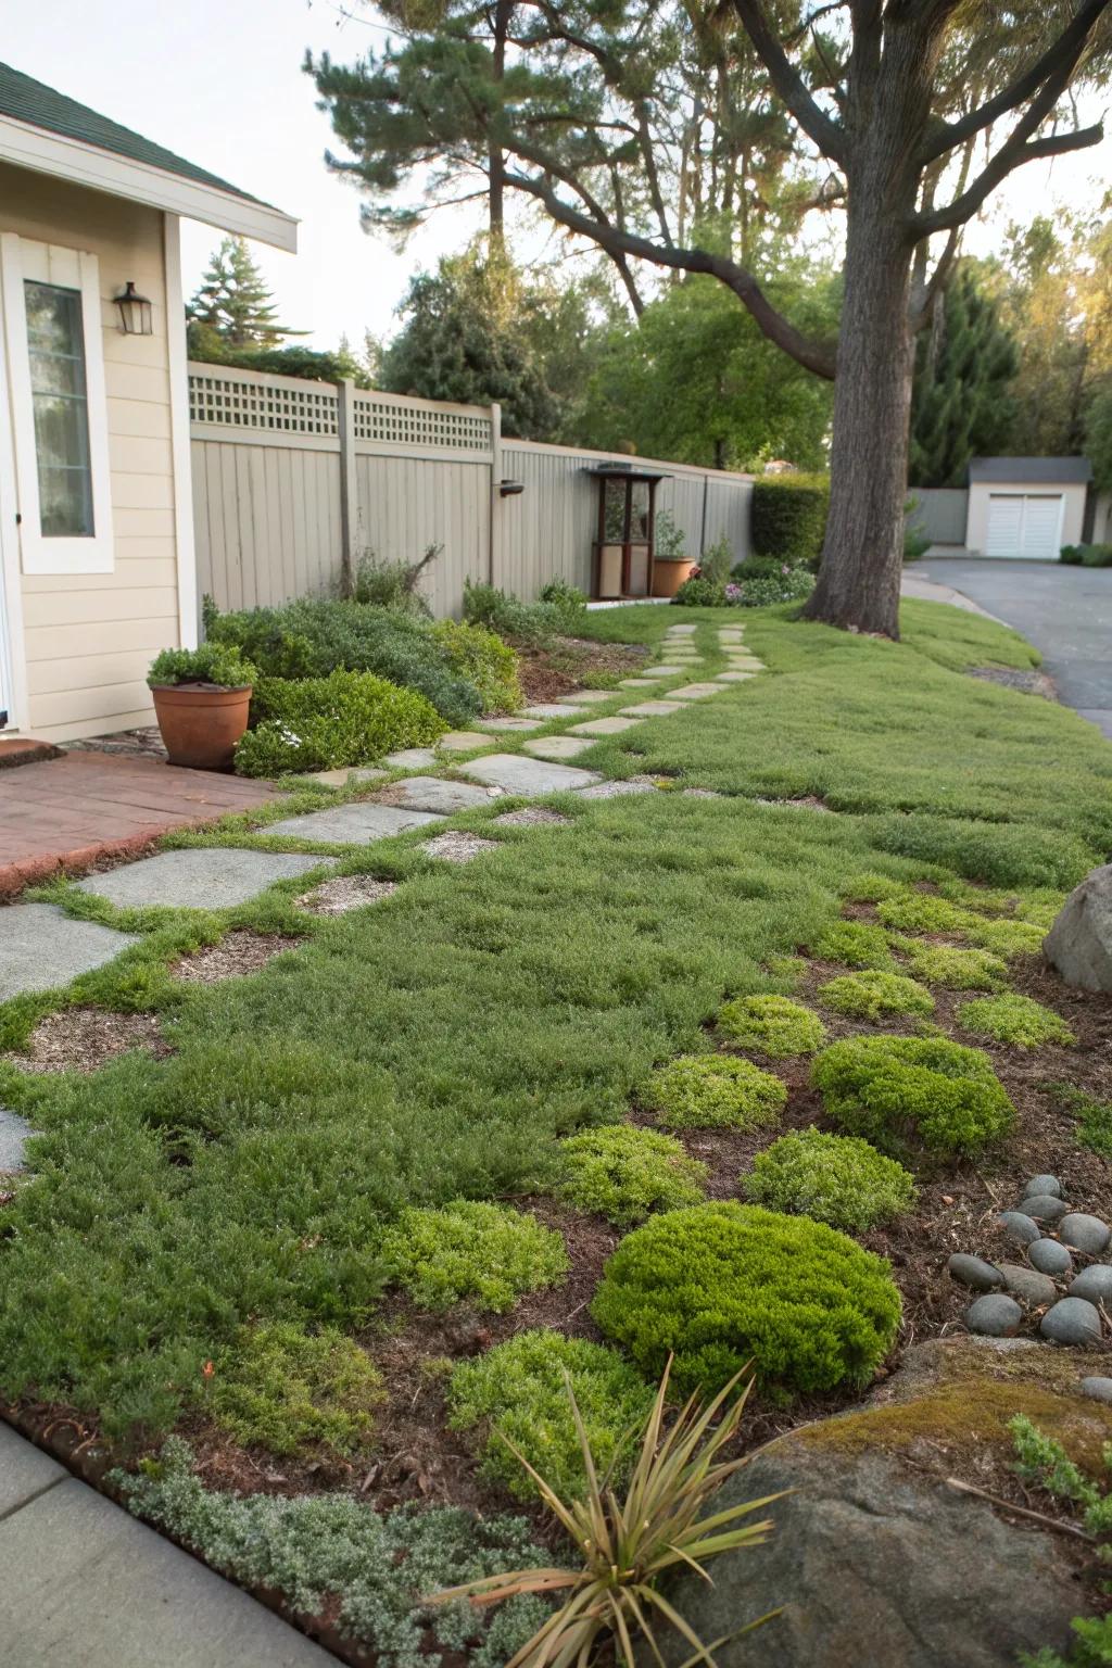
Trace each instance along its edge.
<instances>
[{"instance_id":1,"label":"spiky plant with narrow yellowish-tan leaves in front of mossy boulder","mask_svg":"<svg viewBox=\"0 0 1112 1668\"><path fill-rule=\"evenodd\" d=\"M692 1668L695 1663L715 1668L712 1653L720 1645L759 1628L762 1621L777 1615L770 1610L765 1616L759 1616L747 1626L735 1628L707 1645L657 1590L660 1576L677 1565L685 1565L710 1581L704 1568L707 1560L742 1546L760 1546L772 1531L772 1521L765 1518L760 1523L742 1526L737 1520L782 1498L780 1495L765 1495L762 1500L727 1506L707 1518L700 1516L710 1495L727 1476L745 1465L745 1460L719 1461L717 1456L740 1424L752 1381L730 1406L727 1406L729 1398L737 1389L739 1381L747 1376L749 1368L737 1373L709 1406L702 1408L699 1398L692 1396L675 1423L665 1431L664 1413L670 1371L672 1358L669 1358L657 1399L645 1419L640 1453L624 1498L619 1498L615 1490L615 1466L620 1465L622 1449L600 1478L567 1374L567 1396L587 1473L584 1500L570 1503L560 1500L520 1449L507 1436L502 1436L502 1441L532 1476L543 1503L582 1553L582 1566L577 1570L515 1570L507 1575L483 1576L480 1581L468 1581L465 1586L435 1593L425 1603L447 1605L452 1600L468 1598L472 1605L498 1605L517 1593L569 1593L569 1598L548 1616L532 1640L522 1645L507 1668L587 1668L595 1646L607 1636L614 1640L629 1665L637 1660L634 1640L644 1638L654 1661L664 1668L664 1656L654 1631L662 1618L677 1628L689 1645L695 1646L684 1668ZM722 1416L719 1418L719 1414ZM634 1436L635 1433L630 1433L630 1439Z\"/></svg>"}]
</instances>

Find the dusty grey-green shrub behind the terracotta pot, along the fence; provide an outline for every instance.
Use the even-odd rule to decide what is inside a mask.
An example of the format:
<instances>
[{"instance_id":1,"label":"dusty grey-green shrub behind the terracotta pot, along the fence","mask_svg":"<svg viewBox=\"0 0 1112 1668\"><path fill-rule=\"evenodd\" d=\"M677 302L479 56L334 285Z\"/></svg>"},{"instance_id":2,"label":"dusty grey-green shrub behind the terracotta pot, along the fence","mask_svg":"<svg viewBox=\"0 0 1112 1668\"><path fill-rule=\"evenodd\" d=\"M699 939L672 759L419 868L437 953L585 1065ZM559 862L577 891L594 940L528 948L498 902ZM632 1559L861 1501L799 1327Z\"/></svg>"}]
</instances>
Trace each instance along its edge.
<instances>
[{"instance_id":1,"label":"dusty grey-green shrub behind the terracotta pot, along the fence","mask_svg":"<svg viewBox=\"0 0 1112 1668\"><path fill-rule=\"evenodd\" d=\"M450 724L465 724L482 707L475 686L452 671L432 624L398 609L303 597L280 609L210 612L207 629L210 641L233 644L268 677L375 672L425 696Z\"/></svg>"}]
</instances>

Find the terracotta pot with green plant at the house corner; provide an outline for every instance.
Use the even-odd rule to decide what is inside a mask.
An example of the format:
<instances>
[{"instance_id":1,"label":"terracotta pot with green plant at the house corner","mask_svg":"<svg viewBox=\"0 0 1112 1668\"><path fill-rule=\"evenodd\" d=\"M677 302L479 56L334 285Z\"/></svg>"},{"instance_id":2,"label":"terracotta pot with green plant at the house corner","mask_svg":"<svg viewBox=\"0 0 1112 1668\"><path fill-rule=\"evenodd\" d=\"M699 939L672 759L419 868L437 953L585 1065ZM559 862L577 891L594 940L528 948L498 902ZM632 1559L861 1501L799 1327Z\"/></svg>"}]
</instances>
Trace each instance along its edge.
<instances>
[{"instance_id":1,"label":"terracotta pot with green plant at the house corner","mask_svg":"<svg viewBox=\"0 0 1112 1668\"><path fill-rule=\"evenodd\" d=\"M238 649L203 642L200 649L163 649L147 682L170 764L230 771L247 729L257 672Z\"/></svg>"}]
</instances>

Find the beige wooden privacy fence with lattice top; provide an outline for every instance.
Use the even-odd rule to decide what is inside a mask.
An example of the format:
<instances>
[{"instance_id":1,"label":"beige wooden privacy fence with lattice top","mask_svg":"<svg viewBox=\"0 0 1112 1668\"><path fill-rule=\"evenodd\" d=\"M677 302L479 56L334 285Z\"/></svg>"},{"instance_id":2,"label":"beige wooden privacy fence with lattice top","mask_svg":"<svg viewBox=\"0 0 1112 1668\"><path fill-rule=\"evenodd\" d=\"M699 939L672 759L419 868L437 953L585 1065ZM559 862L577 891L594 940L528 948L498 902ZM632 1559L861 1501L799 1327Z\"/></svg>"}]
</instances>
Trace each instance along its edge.
<instances>
[{"instance_id":1,"label":"beige wooden privacy fence with lattice top","mask_svg":"<svg viewBox=\"0 0 1112 1668\"><path fill-rule=\"evenodd\" d=\"M425 592L458 614L463 580L532 600L553 577L590 590L599 464L612 452L502 437L497 405L448 405L350 382L190 365L198 590L222 609L340 589L365 552L417 559L442 545ZM729 539L749 554L752 479L689 464L665 472L687 550ZM522 492L503 495L505 482Z\"/></svg>"}]
</instances>

